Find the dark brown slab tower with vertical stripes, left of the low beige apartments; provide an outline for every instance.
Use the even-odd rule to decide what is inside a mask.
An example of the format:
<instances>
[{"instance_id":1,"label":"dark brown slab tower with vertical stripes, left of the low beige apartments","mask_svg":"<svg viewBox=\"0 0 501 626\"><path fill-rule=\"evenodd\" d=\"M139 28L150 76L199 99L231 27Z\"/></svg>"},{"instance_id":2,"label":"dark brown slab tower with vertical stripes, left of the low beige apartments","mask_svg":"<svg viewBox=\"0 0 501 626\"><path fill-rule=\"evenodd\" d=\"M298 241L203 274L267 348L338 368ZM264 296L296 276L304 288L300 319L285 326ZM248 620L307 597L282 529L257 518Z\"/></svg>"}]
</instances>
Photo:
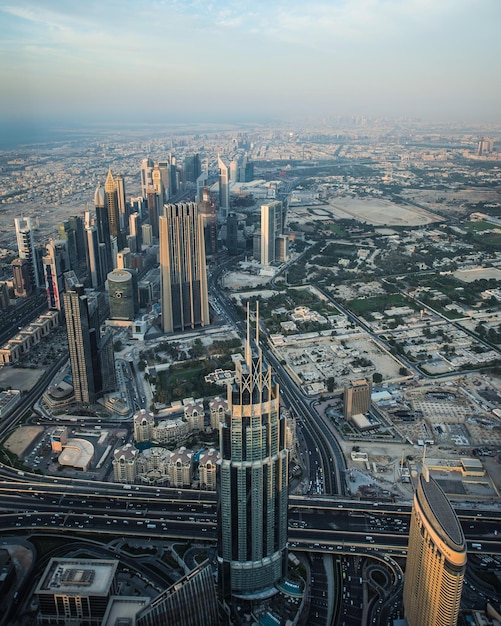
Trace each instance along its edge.
<instances>
[{"instance_id":1,"label":"dark brown slab tower with vertical stripes, left of the low beige apartments","mask_svg":"<svg viewBox=\"0 0 501 626\"><path fill-rule=\"evenodd\" d=\"M102 386L97 301L77 285L65 292L64 309L75 402L93 403Z\"/></svg>"}]
</instances>

